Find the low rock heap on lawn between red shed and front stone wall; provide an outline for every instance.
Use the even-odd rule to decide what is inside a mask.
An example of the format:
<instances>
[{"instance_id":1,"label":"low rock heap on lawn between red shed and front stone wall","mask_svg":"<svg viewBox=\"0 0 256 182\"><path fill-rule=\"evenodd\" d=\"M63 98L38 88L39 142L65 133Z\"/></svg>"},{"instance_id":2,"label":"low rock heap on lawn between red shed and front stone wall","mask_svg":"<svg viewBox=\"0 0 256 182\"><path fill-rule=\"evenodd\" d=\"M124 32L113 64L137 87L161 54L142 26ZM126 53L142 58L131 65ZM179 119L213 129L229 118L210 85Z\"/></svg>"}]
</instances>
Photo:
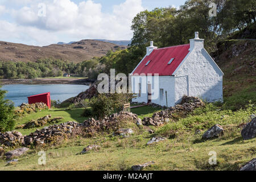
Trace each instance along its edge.
<instances>
[{"instance_id":1,"label":"low rock heap on lawn between red shed and front stone wall","mask_svg":"<svg viewBox=\"0 0 256 182\"><path fill-rule=\"evenodd\" d=\"M63 117L56 117L51 119L51 115L46 115L45 117L39 118L37 120L32 119L30 122L26 123L26 125L23 128L31 129L33 127L47 125L47 123L54 124L60 122L61 119L63 119Z\"/></svg>"}]
</instances>

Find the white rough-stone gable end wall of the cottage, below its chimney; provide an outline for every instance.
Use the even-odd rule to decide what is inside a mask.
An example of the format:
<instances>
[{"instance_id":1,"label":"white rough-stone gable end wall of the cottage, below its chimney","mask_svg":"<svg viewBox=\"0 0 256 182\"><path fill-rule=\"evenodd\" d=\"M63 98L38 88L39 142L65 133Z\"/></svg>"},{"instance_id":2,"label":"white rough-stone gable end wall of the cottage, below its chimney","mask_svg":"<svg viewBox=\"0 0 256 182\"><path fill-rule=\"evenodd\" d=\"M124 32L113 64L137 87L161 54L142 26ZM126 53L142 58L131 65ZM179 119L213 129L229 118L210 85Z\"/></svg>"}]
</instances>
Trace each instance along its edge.
<instances>
[{"instance_id":1,"label":"white rough-stone gable end wall of the cottage, below its chimney","mask_svg":"<svg viewBox=\"0 0 256 182\"><path fill-rule=\"evenodd\" d=\"M194 48L175 72L175 103L179 103L186 92L188 96L209 102L222 101L222 76L207 51Z\"/></svg>"}]
</instances>

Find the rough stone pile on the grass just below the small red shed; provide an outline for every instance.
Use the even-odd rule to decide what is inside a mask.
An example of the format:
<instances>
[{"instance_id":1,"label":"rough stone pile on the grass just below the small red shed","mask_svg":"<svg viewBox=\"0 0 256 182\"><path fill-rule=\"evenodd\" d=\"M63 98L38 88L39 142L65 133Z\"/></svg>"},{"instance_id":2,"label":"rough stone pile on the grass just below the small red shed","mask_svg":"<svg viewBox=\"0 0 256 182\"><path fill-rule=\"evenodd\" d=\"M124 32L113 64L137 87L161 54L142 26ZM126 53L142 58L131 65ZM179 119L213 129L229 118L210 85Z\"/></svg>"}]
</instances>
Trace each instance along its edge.
<instances>
[{"instance_id":1,"label":"rough stone pile on the grass just below the small red shed","mask_svg":"<svg viewBox=\"0 0 256 182\"><path fill-rule=\"evenodd\" d=\"M15 110L15 114L17 115L22 115L25 113L34 113L36 111L41 111L41 110L47 110L48 106L46 104L44 104L43 102L38 102L35 104L26 104L23 103L19 106L20 108L18 110Z\"/></svg>"}]
</instances>

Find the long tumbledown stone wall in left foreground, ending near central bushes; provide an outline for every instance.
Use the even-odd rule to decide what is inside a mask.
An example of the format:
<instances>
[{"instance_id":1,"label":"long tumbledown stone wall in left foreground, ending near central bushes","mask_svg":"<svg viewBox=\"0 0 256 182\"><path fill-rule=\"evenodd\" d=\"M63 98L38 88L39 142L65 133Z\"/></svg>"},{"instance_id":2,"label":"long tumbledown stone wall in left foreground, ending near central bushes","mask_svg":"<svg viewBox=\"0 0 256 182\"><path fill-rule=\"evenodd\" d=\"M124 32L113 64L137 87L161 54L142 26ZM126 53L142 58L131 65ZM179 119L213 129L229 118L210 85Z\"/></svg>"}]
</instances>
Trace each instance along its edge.
<instances>
[{"instance_id":1,"label":"long tumbledown stone wall in left foreground, ending near central bushes","mask_svg":"<svg viewBox=\"0 0 256 182\"><path fill-rule=\"evenodd\" d=\"M46 126L42 130L36 130L30 135L24 136L24 143L26 146L31 144L44 144L53 142L58 137L68 137L72 134L72 129L79 127L77 122L66 122L60 125Z\"/></svg>"}]
</instances>

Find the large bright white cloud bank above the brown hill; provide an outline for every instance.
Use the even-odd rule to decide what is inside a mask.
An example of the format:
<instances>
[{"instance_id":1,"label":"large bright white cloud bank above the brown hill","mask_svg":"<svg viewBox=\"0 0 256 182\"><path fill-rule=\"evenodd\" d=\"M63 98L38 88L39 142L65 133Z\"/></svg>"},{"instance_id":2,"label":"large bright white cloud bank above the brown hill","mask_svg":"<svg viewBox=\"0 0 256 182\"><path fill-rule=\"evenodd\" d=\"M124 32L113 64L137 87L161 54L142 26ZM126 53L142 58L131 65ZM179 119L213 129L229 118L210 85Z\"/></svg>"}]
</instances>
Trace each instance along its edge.
<instances>
[{"instance_id":1,"label":"large bright white cloud bank above the brown hill","mask_svg":"<svg viewBox=\"0 0 256 182\"><path fill-rule=\"evenodd\" d=\"M15 0L11 0L15 1ZM131 21L139 11L144 10L141 0L126 0L113 6L113 12L102 13L100 3L91 0L77 5L71 0L44 1L46 16L38 16L39 1L22 0L29 3L19 10L12 10L13 26L19 42L45 46L53 41L81 39L129 40L132 37ZM1 10L1 6L0 6ZM2 27L2 26L1 26ZM2 35L9 33L0 31ZM1 36L0 36L1 39Z\"/></svg>"}]
</instances>

